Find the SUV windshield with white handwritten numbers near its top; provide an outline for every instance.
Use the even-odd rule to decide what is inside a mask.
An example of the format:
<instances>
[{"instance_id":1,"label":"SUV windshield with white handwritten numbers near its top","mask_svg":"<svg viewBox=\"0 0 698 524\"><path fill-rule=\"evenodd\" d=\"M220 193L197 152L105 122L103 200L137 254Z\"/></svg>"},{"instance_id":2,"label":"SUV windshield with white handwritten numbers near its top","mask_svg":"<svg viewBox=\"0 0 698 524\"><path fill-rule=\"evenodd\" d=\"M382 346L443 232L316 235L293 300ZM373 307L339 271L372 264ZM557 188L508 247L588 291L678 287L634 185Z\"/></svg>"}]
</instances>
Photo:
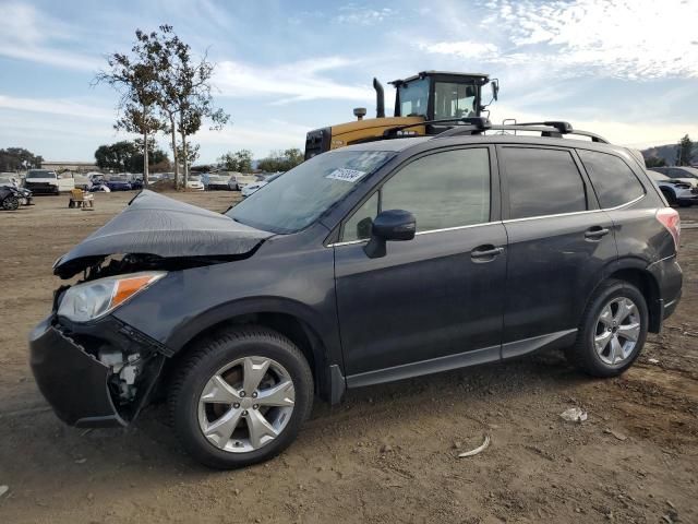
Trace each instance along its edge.
<instances>
[{"instance_id":1,"label":"SUV windshield with white handwritten numbers near its top","mask_svg":"<svg viewBox=\"0 0 698 524\"><path fill-rule=\"evenodd\" d=\"M394 154L354 150L314 156L226 214L241 224L267 231L299 231L353 191L365 175Z\"/></svg>"}]
</instances>

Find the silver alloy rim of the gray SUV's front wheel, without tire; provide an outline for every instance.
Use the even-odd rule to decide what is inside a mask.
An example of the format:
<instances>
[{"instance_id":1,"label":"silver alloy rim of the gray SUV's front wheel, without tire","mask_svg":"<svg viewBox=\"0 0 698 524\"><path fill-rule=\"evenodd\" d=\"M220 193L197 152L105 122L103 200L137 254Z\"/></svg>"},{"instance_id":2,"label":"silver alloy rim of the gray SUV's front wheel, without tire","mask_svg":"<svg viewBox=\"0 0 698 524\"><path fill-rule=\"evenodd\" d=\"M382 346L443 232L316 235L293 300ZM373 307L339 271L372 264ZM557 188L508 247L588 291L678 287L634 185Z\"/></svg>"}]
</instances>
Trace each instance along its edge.
<instances>
[{"instance_id":1,"label":"silver alloy rim of the gray SUV's front wheel, without tire","mask_svg":"<svg viewBox=\"0 0 698 524\"><path fill-rule=\"evenodd\" d=\"M293 381L284 366L266 357L243 357L220 368L204 385L198 426L222 451L255 451L284 431L294 403Z\"/></svg>"}]
</instances>

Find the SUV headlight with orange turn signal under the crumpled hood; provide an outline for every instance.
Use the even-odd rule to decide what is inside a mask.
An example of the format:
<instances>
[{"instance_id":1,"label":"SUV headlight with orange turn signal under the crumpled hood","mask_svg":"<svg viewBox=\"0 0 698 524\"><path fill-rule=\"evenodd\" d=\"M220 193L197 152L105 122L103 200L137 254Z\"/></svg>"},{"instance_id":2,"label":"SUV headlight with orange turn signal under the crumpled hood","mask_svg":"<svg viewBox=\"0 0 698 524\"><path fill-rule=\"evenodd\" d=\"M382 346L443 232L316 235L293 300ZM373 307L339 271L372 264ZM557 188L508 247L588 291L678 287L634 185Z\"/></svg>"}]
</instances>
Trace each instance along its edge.
<instances>
[{"instance_id":1,"label":"SUV headlight with orange turn signal under the crumpled hood","mask_svg":"<svg viewBox=\"0 0 698 524\"><path fill-rule=\"evenodd\" d=\"M79 284L65 291L58 307L58 314L73 322L98 319L113 311L166 274L164 271L148 271Z\"/></svg>"}]
</instances>

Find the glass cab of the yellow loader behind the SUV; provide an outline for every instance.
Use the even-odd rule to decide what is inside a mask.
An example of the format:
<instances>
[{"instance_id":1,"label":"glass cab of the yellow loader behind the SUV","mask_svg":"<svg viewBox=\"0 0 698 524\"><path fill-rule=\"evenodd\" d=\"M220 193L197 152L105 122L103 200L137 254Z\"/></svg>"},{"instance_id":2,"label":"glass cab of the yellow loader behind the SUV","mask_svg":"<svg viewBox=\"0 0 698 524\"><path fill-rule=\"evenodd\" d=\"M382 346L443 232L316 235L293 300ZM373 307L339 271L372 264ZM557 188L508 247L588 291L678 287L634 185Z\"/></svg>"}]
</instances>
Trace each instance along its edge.
<instances>
[{"instance_id":1,"label":"glass cab of the yellow loader behind the SUV","mask_svg":"<svg viewBox=\"0 0 698 524\"><path fill-rule=\"evenodd\" d=\"M482 105L482 86L490 79L486 74L424 71L405 80L390 82L396 88L396 117L424 117L424 120L479 117ZM496 98L493 83L493 98Z\"/></svg>"}]
</instances>

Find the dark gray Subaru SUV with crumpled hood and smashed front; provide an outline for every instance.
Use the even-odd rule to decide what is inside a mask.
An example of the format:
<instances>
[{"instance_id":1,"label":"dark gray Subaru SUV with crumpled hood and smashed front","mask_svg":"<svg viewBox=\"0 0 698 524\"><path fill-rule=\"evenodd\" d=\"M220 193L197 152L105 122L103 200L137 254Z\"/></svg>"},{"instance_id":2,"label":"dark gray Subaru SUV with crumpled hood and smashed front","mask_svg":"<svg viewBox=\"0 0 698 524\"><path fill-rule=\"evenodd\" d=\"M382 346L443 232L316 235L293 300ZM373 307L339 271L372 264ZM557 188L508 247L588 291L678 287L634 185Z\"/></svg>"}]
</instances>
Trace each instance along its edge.
<instances>
[{"instance_id":1,"label":"dark gray Subaru SUV with crumpled hood and smashed front","mask_svg":"<svg viewBox=\"0 0 698 524\"><path fill-rule=\"evenodd\" d=\"M682 287L678 215L640 160L482 121L324 153L225 214L143 191L56 262L82 276L31 335L34 374L77 426L165 395L224 468L284 450L315 395L542 348L617 376Z\"/></svg>"}]
</instances>

